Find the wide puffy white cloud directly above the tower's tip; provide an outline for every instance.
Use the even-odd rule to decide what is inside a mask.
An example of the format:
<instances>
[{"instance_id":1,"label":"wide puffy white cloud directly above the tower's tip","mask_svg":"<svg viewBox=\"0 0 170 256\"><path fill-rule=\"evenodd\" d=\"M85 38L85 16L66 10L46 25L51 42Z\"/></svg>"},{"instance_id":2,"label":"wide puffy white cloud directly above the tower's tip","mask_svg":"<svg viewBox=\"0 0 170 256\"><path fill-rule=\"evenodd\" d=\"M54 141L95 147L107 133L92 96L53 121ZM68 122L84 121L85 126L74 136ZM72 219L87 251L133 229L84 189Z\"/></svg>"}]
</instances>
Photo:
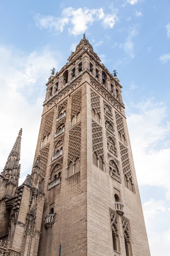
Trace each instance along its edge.
<instances>
[{"instance_id":1,"label":"wide puffy white cloud directly above the tower's tip","mask_svg":"<svg viewBox=\"0 0 170 256\"><path fill-rule=\"evenodd\" d=\"M105 14L103 9L88 9L68 7L63 9L60 17L50 15L34 15L36 25L40 29L50 29L55 33L62 32L65 25L69 25L68 31L73 35L79 35L88 29L94 22L101 21L105 29L113 28L118 20L117 9L110 6L111 14Z\"/></svg>"}]
</instances>

